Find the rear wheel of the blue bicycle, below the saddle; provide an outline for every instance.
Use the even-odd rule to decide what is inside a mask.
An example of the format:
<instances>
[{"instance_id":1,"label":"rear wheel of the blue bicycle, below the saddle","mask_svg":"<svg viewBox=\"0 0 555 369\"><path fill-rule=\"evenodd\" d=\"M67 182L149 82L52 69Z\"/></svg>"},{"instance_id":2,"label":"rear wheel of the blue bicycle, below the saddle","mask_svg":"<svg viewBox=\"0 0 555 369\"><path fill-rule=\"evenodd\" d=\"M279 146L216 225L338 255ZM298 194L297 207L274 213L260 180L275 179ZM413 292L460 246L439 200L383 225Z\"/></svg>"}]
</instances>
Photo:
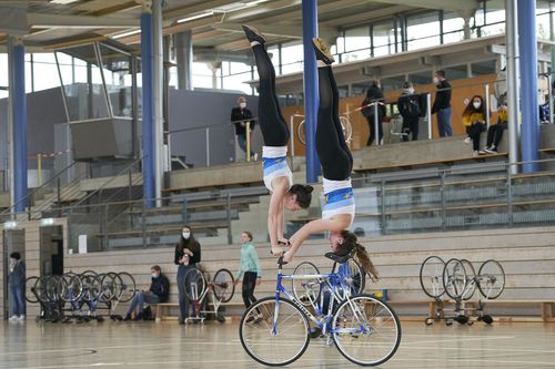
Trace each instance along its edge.
<instances>
[{"instance_id":1,"label":"rear wheel of the blue bicycle, below the saddle","mask_svg":"<svg viewBox=\"0 0 555 369\"><path fill-rule=\"evenodd\" d=\"M401 344L401 324L395 311L371 295L344 300L332 319L337 350L360 366L379 366L390 360Z\"/></svg>"}]
</instances>

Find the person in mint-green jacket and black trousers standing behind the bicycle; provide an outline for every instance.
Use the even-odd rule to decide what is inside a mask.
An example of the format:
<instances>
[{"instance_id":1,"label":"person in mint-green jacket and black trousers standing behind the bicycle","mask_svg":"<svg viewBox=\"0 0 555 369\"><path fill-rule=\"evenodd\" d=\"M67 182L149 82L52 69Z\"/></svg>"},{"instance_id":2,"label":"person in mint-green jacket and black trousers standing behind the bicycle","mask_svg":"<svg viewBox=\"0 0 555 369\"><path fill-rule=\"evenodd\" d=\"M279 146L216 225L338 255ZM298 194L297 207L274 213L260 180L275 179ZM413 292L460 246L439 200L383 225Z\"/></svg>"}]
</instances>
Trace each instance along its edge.
<instances>
[{"instance_id":1,"label":"person in mint-green jacket and black trousers standing behind the bicycle","mask_svg":"<svg viewBox=\"0 0 555 369\"><path fill-rule=\"evenodd\" d=\"M262 274L260 271L259 257L256 255L256 249L252 244L252 234L250 232L243 232L241 234L241 259L239 263L239 271L235 277L235 285L239 284L241 278L243 279L243 301L245 308L249 308L251 304L256 301L254 297L254 287L260 285ZM254 322L262 321L262 317L254 316L249 317L249 321L254 320ZM258 320L258 321L256 321Z\"/></svg>"}]
</instances>

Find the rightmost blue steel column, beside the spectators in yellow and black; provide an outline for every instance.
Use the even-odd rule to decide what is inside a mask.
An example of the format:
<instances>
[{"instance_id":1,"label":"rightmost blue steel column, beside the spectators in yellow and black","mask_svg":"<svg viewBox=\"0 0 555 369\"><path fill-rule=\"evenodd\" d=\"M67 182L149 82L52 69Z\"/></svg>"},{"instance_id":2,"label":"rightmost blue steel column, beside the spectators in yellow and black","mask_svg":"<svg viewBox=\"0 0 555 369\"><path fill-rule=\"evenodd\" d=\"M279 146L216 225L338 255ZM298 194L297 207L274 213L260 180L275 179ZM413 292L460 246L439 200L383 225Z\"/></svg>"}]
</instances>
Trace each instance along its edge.
<instances>
[{"instance_id":1,"label":"rightmost blue steel column, beside the spectators in yellow and black","mask_svg":"<svg viewBox=\"0 0 555 369\"><path fill-rule=\"evenodd\" d=\"M518 48L521 55L521 99L523 162L538 158L539 113L537 105L536 1L517 1ZM537 163L525 164L524 173L536 172Z\"/></svg>"}]
</instances>

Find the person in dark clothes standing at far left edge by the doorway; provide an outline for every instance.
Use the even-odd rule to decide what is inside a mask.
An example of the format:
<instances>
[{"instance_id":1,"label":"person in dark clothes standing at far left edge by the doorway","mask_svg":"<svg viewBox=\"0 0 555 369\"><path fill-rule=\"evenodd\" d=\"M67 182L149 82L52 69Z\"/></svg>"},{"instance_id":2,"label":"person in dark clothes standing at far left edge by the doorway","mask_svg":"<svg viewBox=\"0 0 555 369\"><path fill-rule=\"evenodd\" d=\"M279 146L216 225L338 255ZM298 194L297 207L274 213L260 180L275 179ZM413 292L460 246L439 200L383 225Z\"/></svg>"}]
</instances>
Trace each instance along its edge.
<instances>
[{"instance_id":1,"label":"person in dark clothes standing at far left edge by the doorway","mask_svg":"<svg viewBox=\"0 0 555 369\"><path fill-rule=\"evenodd\" d=\"M26 264L21 260L19 253L10 254L8 288L11 306L10 321L26 320Z\"/></svg>"}]
</instances>

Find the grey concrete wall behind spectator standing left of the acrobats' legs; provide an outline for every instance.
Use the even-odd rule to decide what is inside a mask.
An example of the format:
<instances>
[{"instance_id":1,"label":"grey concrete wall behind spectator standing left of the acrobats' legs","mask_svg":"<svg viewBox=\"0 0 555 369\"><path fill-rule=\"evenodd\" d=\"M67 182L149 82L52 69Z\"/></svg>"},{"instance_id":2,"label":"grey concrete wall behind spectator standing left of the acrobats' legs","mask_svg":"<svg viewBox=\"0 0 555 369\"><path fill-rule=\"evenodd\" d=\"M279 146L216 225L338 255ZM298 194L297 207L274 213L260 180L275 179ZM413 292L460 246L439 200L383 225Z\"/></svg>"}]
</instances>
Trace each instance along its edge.
<instances>
[{"instance_id":1,"label":"grey concrete wall behind spectator standing left of the acrobats' legs","mask_svg":"<svg viewBox=\"0 0 555 369\"><path fill-rule=\"evenodd\" d=\"M198 129L173 133L172 155L186 156L186 163L206 165L206 137L204 126L210 129L210 165L226 164L235 160L235 131L230 125L231 110L236 106L240 94L210 91L170 90L170 131ZM258 96L246 96L248 107L258 115ZM260 125L253 132L253 150L262 152ZM243 157L242 154L240 156Z\"/></svg>"}]
</instances>

